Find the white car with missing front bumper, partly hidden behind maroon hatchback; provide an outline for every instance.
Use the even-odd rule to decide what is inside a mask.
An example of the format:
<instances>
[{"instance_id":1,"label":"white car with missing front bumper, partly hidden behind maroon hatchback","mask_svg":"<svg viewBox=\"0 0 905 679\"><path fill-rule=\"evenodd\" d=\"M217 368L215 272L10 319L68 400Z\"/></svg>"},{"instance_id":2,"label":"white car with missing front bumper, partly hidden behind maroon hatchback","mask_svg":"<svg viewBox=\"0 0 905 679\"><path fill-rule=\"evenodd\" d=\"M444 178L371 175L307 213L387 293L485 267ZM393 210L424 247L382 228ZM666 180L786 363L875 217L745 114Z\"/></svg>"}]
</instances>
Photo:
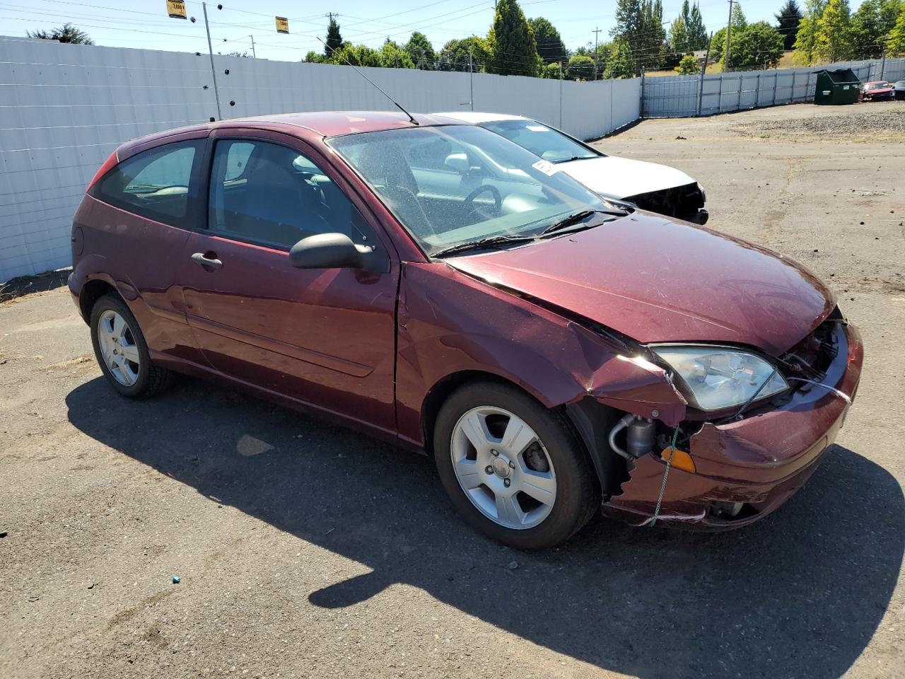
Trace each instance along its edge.
<instances>
[{"instance_id":1,"label":"white car with missing front bumper, partly hidden behind maroon hatchback","mask_svg":"<svg viewBox=\"0 0 905 679\"><path fill-rule=\"evenodd\" d=\"M576 178L595 193L624 200L661 215L705 224L704 190L675 167L607 156L565 132L537 120L502 113L447 112L435 115L480 125L527 148L556 171Z\"/></svg>"}]
</instances>

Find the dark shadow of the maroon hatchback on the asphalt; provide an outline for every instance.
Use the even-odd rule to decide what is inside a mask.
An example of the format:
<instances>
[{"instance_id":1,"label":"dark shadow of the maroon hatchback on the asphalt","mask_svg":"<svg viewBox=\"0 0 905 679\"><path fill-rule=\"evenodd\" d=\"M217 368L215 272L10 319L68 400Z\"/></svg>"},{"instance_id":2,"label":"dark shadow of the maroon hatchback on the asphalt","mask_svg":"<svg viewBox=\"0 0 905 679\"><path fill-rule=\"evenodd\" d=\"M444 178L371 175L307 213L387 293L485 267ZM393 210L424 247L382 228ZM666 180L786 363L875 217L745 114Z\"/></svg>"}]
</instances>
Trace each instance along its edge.
<instances>
[{"instance_id":1,"label":"dark shadow of the maroon hatchback on the asphalt","mask_svg":"<svg viewBox=\"0 0 905 679\"><path fill-rule=\"evenodd\" d=\"M748 529L598 518L562 548L529 554L460 521L431 460L314 417L188 378L142 402L111 401L96 378L66 402L86 435L372 569L310 592L315 606L406 583L534 644L640 677L838 677L880 624L905 545L899 483L841 446Z\"/></svg>"}]
</instances>

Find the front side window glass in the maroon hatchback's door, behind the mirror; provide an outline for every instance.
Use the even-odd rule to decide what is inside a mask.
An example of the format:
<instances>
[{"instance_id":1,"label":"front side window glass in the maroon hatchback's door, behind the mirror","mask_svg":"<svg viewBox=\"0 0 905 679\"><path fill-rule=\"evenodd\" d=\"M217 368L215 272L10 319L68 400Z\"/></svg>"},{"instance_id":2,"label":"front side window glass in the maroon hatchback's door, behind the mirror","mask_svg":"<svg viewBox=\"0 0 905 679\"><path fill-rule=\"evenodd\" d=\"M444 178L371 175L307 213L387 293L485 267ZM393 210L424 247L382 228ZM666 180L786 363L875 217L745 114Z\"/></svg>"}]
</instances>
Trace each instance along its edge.
<instances>
[{"instance_id":1,"label":"front side window glass in the maroon hatchback's door, behind the mirror","mask_svg":"<svg viewBox=\"0 0 905 679\"><path fill-rule=\"evenodd\" d=\"M214 147L208 225L212 234L289 250L315 234L368 243L342 190L310 158L267 141L223 139Z\"/></svg>"}]
</instances>

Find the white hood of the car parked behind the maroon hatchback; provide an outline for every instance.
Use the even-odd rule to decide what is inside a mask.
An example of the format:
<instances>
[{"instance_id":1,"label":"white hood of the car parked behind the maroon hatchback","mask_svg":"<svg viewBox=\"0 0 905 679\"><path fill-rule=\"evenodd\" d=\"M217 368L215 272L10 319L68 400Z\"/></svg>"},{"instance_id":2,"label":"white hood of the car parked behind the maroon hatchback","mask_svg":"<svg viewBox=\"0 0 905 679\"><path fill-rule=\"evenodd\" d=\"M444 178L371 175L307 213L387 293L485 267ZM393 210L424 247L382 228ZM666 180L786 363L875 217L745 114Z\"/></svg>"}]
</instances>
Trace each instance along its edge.
<instances>
[{"instance_id":1,"label":"white hood of the car parked behind the maroon hatchback","mask_svg":"<svg viewBox=\"0 0 905 679\"><path fill-rule=\"evenodd\" d=\"M572 160L557 163L554 167L595 193L611 198L637 196L694 182L694 179L675 167L617 156Z\"/></svg>"}]
</instances>

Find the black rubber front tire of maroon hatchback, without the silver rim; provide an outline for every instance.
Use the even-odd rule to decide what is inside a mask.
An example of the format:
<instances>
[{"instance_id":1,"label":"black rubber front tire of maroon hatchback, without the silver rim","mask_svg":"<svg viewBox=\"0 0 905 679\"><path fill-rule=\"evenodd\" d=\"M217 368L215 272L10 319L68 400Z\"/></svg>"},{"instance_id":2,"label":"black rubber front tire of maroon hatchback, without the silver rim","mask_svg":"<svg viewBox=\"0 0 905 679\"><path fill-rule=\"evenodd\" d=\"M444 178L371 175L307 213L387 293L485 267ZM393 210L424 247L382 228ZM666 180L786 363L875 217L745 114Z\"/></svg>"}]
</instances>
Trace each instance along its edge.
<instances>
[{"instance_id":1,"label":"black rubber front tire of maroon hatchback, without the silver rim","mask_svg":"<svg viewBox=\"0 0 905 679\"><path fill-rule=\"evenodd\" d=\"M482 513L462 490L452 468L452 434L472 408L493 406L519 416L538 435L556 472L556 499L546 519L531 528L502 526ZM434 425L433 455L443 489L473 528L519 550L553 547L579 531L601 502L594 465L565 416L515 387L494 382L460 387L447 398Z\"/></svg>"}]
</instances>

